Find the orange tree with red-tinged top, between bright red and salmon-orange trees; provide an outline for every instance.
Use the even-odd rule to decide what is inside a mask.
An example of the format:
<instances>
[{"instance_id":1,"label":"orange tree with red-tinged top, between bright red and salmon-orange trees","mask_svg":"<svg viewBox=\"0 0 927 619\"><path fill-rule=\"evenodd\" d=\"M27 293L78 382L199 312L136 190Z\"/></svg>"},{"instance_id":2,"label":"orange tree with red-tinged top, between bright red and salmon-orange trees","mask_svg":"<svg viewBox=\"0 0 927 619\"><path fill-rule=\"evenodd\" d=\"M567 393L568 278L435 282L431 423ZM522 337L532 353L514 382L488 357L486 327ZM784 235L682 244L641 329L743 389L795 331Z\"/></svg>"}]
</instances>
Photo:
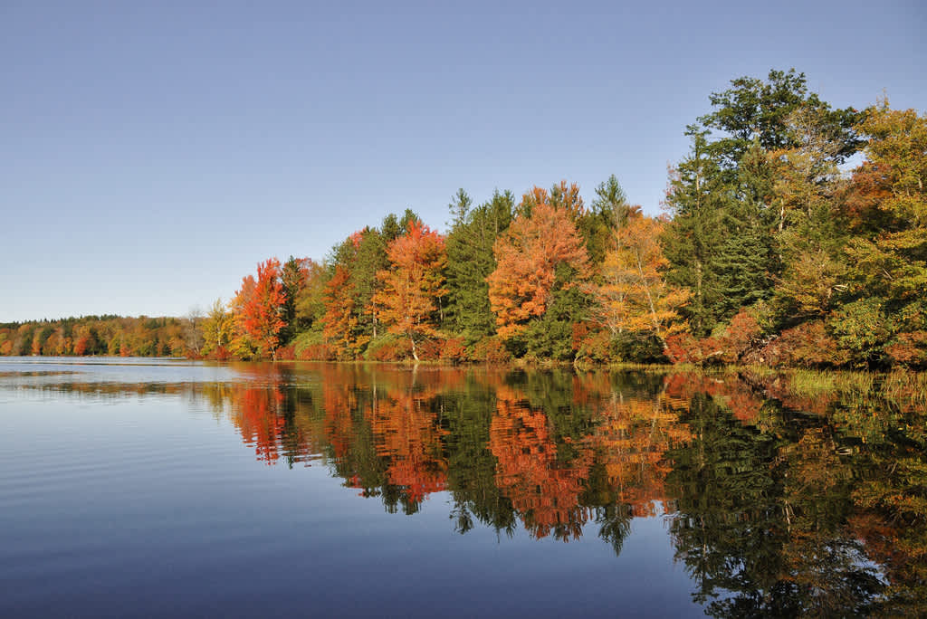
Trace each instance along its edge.
<instances>
[{"instance_id":1,"label":"orange tree with red-tinged top, between bright red and salmon-orange trees","mask_svg":"<svg viewBox=\"0 0 927 619\"><path fill-rule=\"evenodd\" d=\"M374 304L389 333L409 338L417 361L416 344L438 335L434 320L438 301L448 294L444 237L421 221L412 221L409 232L387 246L387 257L392 266L376 274L383 288L374 295Z\"/></svg>"}]
</instances>

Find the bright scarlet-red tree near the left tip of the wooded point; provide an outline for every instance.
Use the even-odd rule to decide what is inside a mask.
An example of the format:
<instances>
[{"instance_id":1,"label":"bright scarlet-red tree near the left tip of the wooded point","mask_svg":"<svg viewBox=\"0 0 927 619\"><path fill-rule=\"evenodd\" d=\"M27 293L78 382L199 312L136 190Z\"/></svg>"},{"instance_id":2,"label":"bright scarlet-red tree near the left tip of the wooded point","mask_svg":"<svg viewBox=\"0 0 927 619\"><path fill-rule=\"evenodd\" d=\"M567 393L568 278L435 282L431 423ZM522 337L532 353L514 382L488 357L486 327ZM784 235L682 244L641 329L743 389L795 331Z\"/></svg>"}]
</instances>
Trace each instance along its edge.
<instances>
[{"instance_id":1,"label":"bright scarlet-red tree near the left tip of the wooded point","mask_svg":"<svg viewBox=\"0 0 927 619\"><path fill-rule=\"evenodd\" d=\"M280 260L272 258L258 263L258 279L248 275L235 293L232 307L240 332L263 356L276 360L280 330L286 325L281 313L286 301L280 282Z\"/></svg>"}]
</instances>

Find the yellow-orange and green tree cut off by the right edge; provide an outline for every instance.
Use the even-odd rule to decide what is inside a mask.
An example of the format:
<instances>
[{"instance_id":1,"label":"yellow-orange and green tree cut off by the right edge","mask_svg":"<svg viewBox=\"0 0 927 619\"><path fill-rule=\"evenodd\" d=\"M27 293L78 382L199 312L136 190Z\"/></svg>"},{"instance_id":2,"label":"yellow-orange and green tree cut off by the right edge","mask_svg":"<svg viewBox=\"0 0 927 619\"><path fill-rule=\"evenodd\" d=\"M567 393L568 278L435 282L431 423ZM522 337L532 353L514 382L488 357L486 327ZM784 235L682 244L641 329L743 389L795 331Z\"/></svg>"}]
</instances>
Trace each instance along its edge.
<instances>
[{"instance_id":1,"label":"yellow-orange and green tree cut off by the right edge","mask_svg":"<svg viewBox=\"0 0 927 619\"><path fill-rule=\"evenodd\" d=\"M887 101L859 125L868 159L854 183L877 194L882 225L859 221L850 243L853 289L832 329L857 362L927 365L927 117L893 110ZM874 178L873 178L874 176ZM881 335L880 333L881 332ZM882 350L880 350L882 348Z\"/></svg>"}]
</instances>

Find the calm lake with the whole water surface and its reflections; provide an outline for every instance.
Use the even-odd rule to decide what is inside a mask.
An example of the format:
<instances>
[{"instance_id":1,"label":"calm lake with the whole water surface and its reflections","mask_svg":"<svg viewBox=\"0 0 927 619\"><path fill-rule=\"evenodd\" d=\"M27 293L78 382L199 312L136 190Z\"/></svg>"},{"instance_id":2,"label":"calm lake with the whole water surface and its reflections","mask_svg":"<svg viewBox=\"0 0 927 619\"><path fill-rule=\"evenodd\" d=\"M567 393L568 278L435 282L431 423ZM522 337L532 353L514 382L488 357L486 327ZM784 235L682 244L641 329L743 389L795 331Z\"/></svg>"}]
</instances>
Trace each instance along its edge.
<instances>
[{"instance_id":1,"label":"calm lake with the whole water surface and its reflections","mask_svg":"<svg viewBox=\"0 0 927 619\"><path fill-rule=\"evenodd\" d=\"M0 615L927 613L923 385L0 358Z\"/></svg>"}]
</instances>

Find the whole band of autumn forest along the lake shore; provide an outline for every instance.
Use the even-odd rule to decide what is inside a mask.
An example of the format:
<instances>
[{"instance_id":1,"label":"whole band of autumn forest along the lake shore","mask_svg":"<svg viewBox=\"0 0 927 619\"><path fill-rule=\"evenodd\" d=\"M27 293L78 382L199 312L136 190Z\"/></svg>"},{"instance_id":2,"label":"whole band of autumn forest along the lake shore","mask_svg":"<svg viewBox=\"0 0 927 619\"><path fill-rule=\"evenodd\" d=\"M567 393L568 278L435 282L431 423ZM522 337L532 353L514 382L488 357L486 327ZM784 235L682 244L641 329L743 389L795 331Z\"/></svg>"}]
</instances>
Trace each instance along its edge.
<instances>
[{"instance_id":1,"label":"whole band of autumn forest along the lake shore","mask_svg":"<svg viewBox=\"0 0 927 619\"><path fill-rule=\"evenodd\" d=\"M709 104L660 216L615 175L461 189L447 234L388 214L205 315L0 324L0 354L927 368L927 116L794 69Z\"/></svg>"}]
</instances>

